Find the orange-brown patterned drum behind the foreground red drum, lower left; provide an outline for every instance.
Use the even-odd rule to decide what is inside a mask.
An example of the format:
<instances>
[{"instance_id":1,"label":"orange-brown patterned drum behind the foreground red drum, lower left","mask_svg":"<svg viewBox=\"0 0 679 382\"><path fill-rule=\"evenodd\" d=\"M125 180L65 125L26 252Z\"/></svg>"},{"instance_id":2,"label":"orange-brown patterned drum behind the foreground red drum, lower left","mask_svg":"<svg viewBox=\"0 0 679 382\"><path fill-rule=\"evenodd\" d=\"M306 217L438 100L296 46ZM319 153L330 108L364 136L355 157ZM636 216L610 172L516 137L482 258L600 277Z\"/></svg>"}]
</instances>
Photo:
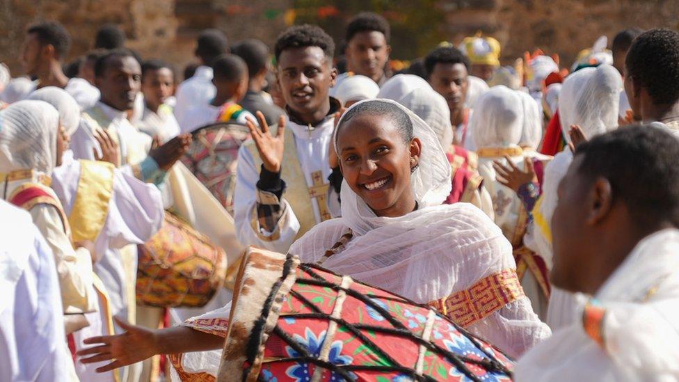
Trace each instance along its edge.
<instances>
[{"instance_id":1,"label":"orange-brown patterned drum behind the foreground red drum, lower left","mask_svg":"<svg viewBox=\"0 0 679 382\"><path fill-rule=\"evenodd\" d=\"M157 307L201 307L224 285L226 254L170 212L138 246L136 299Z\"/></svg>"}]
</instances>

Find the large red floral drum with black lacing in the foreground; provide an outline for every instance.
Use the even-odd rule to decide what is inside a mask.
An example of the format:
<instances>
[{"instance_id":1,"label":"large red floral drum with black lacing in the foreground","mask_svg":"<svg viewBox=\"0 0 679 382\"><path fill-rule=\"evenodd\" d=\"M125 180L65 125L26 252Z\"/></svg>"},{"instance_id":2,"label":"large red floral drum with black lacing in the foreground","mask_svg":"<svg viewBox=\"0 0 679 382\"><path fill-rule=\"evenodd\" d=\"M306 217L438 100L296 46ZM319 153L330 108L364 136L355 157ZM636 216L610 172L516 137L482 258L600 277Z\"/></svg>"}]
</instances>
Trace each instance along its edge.
<instances>
[{"instance_id":1,"label":"large red floral drum with black lacing in the foreground","mask_svg":"<svg viewBox=\"0 0 679 382\"><path fill-rule=\"evenodd\" d=\"M511 381L513 362L426 305L250 249L219 381Z\"/></svg>"}]
</instances>

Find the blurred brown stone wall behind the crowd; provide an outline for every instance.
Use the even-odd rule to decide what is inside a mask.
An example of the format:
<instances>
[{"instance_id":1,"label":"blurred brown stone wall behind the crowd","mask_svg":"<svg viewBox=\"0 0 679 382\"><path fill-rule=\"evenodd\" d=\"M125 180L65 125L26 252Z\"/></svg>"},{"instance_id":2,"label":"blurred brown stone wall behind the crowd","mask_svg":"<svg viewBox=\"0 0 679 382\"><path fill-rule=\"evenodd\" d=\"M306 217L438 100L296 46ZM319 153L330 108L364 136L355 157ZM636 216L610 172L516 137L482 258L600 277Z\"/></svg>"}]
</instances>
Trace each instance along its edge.
<instances>
[{"instance_id":1,"label":"blurred brown stone wall behind the crowd","mask_svg":"<svg viewBox=\"0 0 679 382\"><path fill-rule=\"evenodd\" d=\"M294 0L275 7L285 10ZM332 3L328 1L328 3ZM93 44L97 28L120 24L128 46L143 56L163 58L181 68L193 61L196 35L218 27L231 41L255 37L273 44L285 28L282 19L267 20L261 13L234 15L239 6L271 8L268 0L0 0L0 61L21 73L20 48L26 26L56 19L73 39L70 58ZM502 43L506 62L526 49L558 53L569 66L577 51L605 34L629 26L666 26L679 29L679 0L441 0L445 13L440 26L447 40L459 42L476 31Z\"/></svg>"}]
</instances>

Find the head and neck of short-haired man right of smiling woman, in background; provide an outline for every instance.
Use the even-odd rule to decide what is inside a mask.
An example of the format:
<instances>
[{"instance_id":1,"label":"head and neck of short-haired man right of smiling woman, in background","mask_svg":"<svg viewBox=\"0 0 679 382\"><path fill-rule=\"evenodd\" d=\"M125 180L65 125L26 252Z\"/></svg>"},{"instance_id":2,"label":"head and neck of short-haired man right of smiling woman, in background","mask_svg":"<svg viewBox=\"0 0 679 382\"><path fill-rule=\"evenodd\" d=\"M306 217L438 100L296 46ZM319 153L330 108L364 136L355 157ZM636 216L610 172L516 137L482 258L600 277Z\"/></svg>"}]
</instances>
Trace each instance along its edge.
<instances>
[{"instance_id":1,"label":"head and neck of short-haired man right of smiling woman, in background","mask_svg":"<svg viewBox=\"0 0 679 382\"><path fill-rule=\"evenodd\" d=\"M459 49L439 47L424 58L427 81L442 95L450 109L450 123L453 126L455 145L465 145L470 109L465 107L469 86L469 60Z\"/></svg>"}]
</instances>

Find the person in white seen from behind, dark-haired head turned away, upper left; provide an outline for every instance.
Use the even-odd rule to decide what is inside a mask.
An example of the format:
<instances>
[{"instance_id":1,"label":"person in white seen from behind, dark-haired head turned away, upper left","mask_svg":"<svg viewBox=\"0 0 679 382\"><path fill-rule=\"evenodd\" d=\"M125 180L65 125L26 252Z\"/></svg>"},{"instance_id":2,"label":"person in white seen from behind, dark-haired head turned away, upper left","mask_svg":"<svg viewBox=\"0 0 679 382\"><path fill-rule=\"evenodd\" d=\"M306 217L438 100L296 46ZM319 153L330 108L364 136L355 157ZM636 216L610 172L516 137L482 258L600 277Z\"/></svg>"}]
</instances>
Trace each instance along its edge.
<instances>
[{"instance_id":1,"label":"person in white seen from behind, dark-haired head turned away, upper left","mask_svg":"<svg viewBox=\"0 0 679 382\"><path fill-rule=\"evenodd\" d=\"M193 77L185 79L177 87L177 105L175 117L182 121L186 111L191 106L208 104L216 89L212 84L212 61L220 54L229 51L226 36L217 29L206 29L198 36L195 56L200 61L200 66L195 69Z\"/></svg>"}]
</instances>

